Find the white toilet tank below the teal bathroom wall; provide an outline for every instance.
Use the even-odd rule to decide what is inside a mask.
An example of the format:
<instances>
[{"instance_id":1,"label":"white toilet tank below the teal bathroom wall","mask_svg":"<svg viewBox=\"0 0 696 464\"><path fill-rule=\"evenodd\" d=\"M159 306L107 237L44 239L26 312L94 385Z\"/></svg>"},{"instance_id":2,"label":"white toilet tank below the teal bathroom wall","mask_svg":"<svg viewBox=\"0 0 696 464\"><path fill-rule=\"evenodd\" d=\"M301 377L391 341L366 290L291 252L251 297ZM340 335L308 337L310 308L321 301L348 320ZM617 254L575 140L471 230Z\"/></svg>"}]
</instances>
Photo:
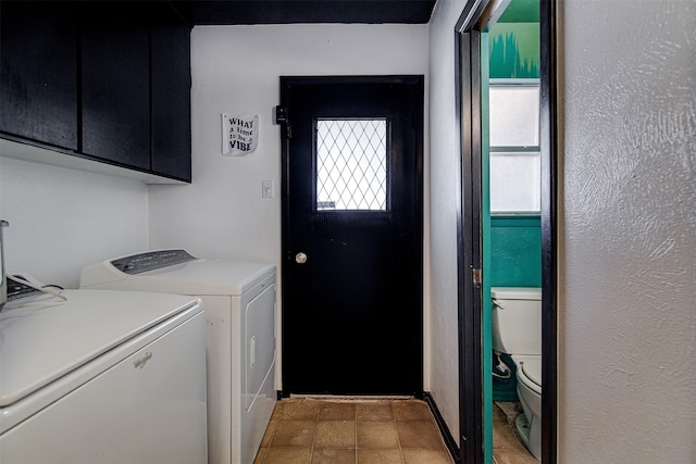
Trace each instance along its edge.
<instances>
[{"instance_id":1,"label":"white toilet tank below the teal bathroom wall","mask_svg":"<svg viewBox=\"0 0 696 464\"><path fill-rule=\"evenodd\" d=\"M542 289L492 287L493 349L508 354L542 354Z\"/></svg>"}]
</instances>

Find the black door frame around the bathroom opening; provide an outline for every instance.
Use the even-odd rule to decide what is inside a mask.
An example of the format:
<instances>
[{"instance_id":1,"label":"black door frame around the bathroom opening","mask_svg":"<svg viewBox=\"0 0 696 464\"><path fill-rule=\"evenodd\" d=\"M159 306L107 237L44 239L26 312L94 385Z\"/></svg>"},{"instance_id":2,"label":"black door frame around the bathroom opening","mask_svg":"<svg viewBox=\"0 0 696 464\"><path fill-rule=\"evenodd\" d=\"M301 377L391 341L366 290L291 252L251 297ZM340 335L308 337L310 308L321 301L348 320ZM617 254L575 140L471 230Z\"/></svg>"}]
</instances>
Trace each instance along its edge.
<instances>
[{"instance_id":1,"label":"black door frame around the bathroom opening","mask_svg":"<svg viewBox=\"0 0 696 464\"><path fill-rule=\"evenodd\" d=\"M481 217L481 28L488 3L468 0L455 26L455 83L460 128L461 198L457 214L459 318L459 428L462 463L484 462ZM542 462L557 462L558 435L558 113L557 5L539 1L542 156ZM464 72L465 67L465 72Z\"/></svg>"}]
</instances>

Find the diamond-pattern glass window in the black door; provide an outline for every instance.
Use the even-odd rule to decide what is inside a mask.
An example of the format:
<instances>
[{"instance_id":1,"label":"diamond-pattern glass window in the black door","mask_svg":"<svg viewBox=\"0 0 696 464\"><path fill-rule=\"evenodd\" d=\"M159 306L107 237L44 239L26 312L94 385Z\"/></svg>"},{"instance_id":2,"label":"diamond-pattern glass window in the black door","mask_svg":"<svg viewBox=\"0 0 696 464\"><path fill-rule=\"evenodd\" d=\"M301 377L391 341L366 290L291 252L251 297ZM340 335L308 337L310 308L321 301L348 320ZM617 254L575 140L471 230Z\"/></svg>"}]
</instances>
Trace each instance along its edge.
<instances>
[{"instance_id":1,"label":"diamond-pattern glass window in the black door","mask_svg":"<svg viewBox=\"0 0 696 464\"><path fill-rule=\"evenodd\" d=\"M316 121L316 210L387 210L387 121Z\"/></svg>"}]
</instances>

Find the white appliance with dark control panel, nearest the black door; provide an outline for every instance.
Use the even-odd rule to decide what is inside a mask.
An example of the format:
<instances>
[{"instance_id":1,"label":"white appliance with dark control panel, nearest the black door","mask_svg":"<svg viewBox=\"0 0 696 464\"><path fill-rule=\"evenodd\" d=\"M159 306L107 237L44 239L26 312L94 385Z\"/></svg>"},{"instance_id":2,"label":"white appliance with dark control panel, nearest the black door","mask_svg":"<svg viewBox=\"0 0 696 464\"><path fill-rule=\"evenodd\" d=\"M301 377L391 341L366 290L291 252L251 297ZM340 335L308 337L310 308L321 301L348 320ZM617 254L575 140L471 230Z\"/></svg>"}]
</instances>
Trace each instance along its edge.
<instances>
[{"instance_id":1,"label":"white appliance with dark control panel, nearest the black door","mask_svg":"<svg viewBox=\"0 0 696 464\"><path fill-rule=\"evenodd\" d=\"M159 250L87 266L80 288L172 292L203 300L209 463L251 464L277 399L275 266Z\"/></svg>"}]
</instances>

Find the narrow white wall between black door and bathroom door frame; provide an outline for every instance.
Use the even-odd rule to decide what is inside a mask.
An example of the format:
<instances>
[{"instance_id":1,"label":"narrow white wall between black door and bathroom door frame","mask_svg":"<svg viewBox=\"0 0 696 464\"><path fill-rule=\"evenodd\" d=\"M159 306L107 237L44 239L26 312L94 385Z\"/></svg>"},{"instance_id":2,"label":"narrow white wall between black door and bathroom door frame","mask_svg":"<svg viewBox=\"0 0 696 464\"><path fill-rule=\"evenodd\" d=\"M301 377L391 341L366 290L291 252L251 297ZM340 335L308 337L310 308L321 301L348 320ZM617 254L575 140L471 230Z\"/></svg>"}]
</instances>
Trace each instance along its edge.
<instances>
[{"instance_id":1,"label":"narrow white wall between black door and bathroom door frame","mask_svg":"<svg viewBox=\"0 0 696 464\"><path fill-rule=\"evenodd\" d=\"M464 0L438 0L430 23L431 392L459 437L457 199L461 171L455 98L455 24Z\"/></svg>"}]
</instances>

